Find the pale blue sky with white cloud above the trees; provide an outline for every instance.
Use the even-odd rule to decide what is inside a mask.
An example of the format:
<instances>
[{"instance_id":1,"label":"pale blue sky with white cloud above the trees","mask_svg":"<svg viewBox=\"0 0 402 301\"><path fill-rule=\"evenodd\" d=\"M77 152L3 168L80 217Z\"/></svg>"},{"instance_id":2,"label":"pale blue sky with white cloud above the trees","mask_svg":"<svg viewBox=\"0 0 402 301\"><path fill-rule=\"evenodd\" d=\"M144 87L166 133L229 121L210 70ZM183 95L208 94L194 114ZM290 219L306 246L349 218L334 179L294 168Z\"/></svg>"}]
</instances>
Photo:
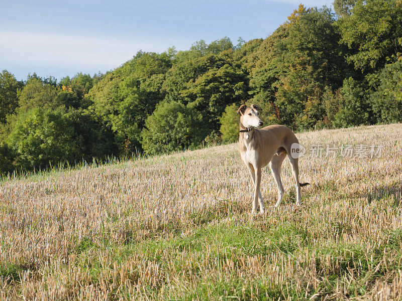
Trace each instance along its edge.
<instances>
[{"instance_id":1,"label":"pale blue sky with white cloud above the trees","mask_svg":"<svg viewBox=\"0 0 402 301\"><path fill-rule=\"evenodd\" d=\"M113 70L139 50L266 38L302 2L326 0L0 0L0 71L58 80Z\"/></svg>"}]
</instances>

